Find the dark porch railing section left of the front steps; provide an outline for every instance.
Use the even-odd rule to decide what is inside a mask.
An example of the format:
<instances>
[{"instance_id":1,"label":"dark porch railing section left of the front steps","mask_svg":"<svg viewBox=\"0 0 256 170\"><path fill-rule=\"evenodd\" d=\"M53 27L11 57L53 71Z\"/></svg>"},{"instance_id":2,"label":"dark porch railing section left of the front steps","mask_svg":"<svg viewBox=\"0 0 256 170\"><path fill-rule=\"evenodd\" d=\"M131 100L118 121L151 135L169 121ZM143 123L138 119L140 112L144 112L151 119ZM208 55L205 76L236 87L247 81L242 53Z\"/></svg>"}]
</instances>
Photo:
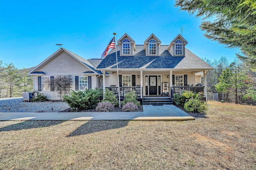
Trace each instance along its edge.
<instances>
[{"instance_id":1,"label":"dark porch railing section left of the front steps","mask_svg":"<svg viewBox=\"0 0 256 170\"><path fill-rule=\"evenodd\" d=\"M118 87L106 87L108 90L113 91L114 95L118 97ZM134 90L135 94L138 98L140 98L140 86L132 86L132 87L120 87L120 97L124 97L125 94Z\"/></svg>"}]
</instances>

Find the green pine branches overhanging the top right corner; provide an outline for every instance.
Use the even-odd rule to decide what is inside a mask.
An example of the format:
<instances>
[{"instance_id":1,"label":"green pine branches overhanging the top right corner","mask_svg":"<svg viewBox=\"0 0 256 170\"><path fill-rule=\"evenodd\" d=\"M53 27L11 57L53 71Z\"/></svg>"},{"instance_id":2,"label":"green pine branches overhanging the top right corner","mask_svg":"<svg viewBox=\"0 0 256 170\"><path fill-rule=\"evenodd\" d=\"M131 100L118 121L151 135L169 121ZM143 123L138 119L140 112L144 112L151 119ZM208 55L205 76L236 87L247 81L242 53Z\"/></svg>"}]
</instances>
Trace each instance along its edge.
<instances>
[{"instance_id":1,"label":"green pine branches overhanging the top right corner","mask_svg":"<svg viewBox=\"0 0 256 170\"><path fill-rule=\"evenodd\" d=\"M255 0L176 0L175 6L204 20L204 36L230 48L239 48L243 61L256 68L256 2Z\"/></svg>"}]
</instances>

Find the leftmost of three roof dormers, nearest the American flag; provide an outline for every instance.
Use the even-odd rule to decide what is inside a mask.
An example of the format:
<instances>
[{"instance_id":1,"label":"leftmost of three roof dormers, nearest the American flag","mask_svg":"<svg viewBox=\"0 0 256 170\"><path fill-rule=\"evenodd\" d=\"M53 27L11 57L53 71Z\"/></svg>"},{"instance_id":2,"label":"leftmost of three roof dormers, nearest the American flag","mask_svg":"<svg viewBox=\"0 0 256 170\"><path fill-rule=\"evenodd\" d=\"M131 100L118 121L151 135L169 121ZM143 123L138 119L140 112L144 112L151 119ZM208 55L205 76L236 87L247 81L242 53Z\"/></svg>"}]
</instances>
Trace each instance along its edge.
<instances>
[{"instance_id":1,"label":"leftmost of three roof dormers, nearest the American flag","mask_svg":"<svg viewBox=\"0 0 256 170\"><path fill-rule=\"evenodd\" d=\"M133 56L135 47L135 41L125 33L120 39L117 41L120 47L120 56Z\"/></svg>"}]
</instances>

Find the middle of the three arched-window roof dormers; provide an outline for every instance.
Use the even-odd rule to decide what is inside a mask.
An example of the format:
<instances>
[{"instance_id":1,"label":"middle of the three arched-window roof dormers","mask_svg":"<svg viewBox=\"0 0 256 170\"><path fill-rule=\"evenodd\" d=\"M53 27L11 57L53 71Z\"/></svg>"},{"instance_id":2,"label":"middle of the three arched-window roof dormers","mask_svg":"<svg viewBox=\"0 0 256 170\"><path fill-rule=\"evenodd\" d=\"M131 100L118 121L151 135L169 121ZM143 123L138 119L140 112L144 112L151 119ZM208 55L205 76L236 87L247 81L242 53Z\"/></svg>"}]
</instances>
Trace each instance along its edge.
<instances>
[{"instance_id":1,"label":"middle of the three arched-window roof dormers","mask_svg":"<svg viewBox=\"0 0 256 170\"><path fill-rule=\"evenodd\" d=\"M159 56L161 41L153 33L144 41L146 56Z\"/></svg>"}]
</instances>

